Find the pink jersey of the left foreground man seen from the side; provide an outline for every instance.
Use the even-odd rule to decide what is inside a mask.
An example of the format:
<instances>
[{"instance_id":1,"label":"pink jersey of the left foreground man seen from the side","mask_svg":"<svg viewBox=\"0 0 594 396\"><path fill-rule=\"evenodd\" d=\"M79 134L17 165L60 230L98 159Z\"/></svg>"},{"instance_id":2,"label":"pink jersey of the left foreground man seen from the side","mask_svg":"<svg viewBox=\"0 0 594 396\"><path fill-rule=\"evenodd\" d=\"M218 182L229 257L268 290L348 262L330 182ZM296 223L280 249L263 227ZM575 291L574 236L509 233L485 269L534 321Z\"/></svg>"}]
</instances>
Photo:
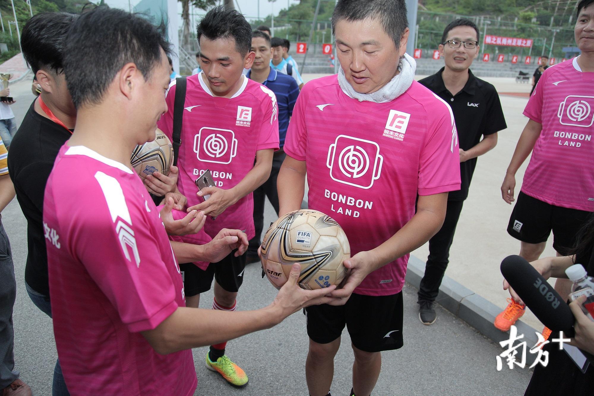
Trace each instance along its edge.
<instances>
[{"instance_id":1,"label":"pink jersey of the left foreground man seen from the side","mask_svg":"<svg viewBox=\"0 0 594 396\"><path fill-rule=\"evenodd\" d=\"M65 144L46 185L43 227L53 332L70 394L194 394L191 350L163 356L140 334L185 298L165 227L138 175Z\"/></svg>"}]
</instances>

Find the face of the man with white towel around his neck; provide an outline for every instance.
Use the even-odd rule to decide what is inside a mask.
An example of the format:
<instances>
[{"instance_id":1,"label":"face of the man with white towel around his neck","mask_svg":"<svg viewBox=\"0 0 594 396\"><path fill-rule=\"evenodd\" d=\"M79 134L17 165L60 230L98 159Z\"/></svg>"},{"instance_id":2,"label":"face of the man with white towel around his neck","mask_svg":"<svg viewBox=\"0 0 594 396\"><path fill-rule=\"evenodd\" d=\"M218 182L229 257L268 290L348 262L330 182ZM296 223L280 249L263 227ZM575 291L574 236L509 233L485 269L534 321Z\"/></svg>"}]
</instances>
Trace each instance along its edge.
<instances>
[{"instance_id":1,"label":"face of the man with white towel around his neck","mask_svg":"<svg viewBox=\"0 0 594 396\"><path fill-rule=\"evenodd\" d=\"M340 20L335 32L340 66L356 92L375 92L396 76L400 55L406 52L408 28L398 48L376 18Z\"/></svg>"}]
</instances>

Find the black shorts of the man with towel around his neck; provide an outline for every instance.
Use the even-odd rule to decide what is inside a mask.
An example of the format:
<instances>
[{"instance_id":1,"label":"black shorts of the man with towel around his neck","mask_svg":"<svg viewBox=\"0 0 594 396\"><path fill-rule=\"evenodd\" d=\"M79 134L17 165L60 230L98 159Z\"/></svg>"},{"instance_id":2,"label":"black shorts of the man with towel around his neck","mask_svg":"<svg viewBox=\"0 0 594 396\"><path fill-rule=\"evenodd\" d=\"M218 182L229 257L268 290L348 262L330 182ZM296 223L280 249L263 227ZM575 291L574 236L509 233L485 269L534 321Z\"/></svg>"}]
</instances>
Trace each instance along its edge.
<instances>
[{"instance_id":1,"label":"black shorts of the man with towel around his neck","mask_svg":"<svg viewBox=\"0 0 594 396\"><path fill-rule=\"evenodd\" d=\"M327 304L305 308L307 335L318 344L328 344L349 331L356 348L380 352L402 348L402 291L391 296L353 293L343 306Z\"/></svg>"}]
</instances>

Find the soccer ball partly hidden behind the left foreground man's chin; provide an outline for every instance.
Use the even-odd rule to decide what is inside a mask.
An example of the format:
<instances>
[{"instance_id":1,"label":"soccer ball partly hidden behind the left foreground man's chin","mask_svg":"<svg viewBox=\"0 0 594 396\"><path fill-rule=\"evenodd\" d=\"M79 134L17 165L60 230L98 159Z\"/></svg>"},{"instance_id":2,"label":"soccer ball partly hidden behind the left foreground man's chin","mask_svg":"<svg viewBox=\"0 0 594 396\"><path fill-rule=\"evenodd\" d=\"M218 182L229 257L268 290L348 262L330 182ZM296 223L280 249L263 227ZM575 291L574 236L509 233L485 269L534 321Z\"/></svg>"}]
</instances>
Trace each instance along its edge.
<instances>
[{"instance_id":1,"label":"soccer ball partly hidden behind the left foreground man's chin","mask_svg":"<svg viewBox=\"0 0 594 396\"><path fill-rule=\"evenodd\" d=\"M156 135L153 142L136 146L130 158L134 170L143 179L153 172L161 172L167 176L173 162L173 145L169 137L159 128Z\"/></svg>"}]
</instances>

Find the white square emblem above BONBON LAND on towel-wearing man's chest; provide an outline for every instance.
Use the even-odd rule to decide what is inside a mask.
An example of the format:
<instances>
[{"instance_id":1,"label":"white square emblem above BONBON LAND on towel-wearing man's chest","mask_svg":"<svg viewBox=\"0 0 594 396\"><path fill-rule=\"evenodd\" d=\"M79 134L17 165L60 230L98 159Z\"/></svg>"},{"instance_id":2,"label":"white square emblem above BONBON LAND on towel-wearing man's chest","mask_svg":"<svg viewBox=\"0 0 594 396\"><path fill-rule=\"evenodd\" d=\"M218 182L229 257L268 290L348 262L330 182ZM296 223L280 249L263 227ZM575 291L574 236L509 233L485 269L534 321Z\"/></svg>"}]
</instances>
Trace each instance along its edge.
<instances>
[{"instance_id":1,"label":"white square emblem above BONBON LAND on towel-wearing man's chest","mask_svg":"<svg viewBox=\"0 0 594 396\"><path fill-rule=\"evenodd\" d=\"M328 147L330 177L349 186L371 188L380 178L383 163L380 146L371 140L339 135Z\"/></svg>"}]
</instances>

